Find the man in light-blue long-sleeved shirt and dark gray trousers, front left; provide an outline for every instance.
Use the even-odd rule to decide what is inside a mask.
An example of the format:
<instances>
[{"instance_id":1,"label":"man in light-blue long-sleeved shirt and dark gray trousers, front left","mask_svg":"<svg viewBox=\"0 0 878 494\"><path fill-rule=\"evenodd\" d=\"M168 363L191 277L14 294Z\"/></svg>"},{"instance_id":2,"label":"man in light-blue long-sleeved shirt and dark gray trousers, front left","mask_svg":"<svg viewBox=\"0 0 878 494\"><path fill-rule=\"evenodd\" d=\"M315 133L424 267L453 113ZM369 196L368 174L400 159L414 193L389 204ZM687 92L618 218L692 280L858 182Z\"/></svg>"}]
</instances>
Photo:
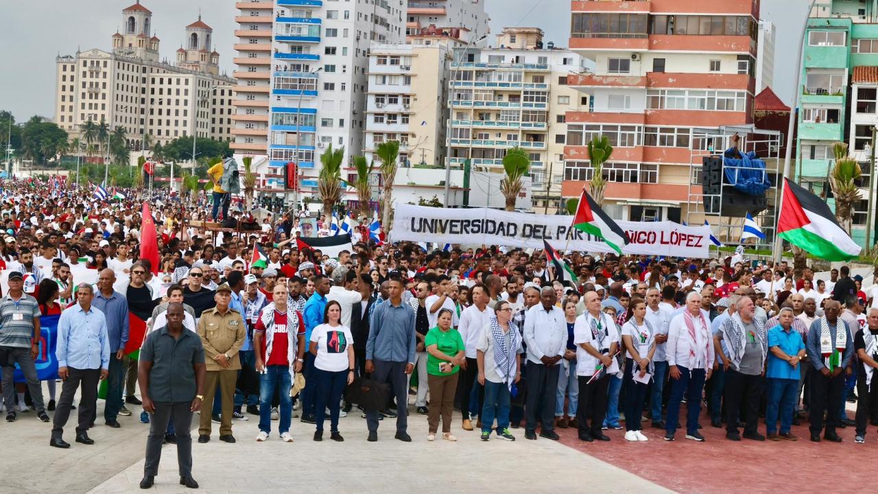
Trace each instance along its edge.
<instances>
[{"instance_id":1,"label":"man in light-blue long-sleeved shirt and dark gray trousers, front left","mask_svg":"<svg viewBox=\"0 0 878 494\"><path fill-rule=\"evenodd\" d=\"M49 446L68 448L61 436L70 416L70 405L76 389L82 386L79 401L79 425L76 442L95 444L87 431L93 425L97 408L97 381L105 379L110 369L110 338L104 313L91 307L94 298L92 287L80 283L76 288L76 305L61 312L58 320L58 375L64 381L61 398L54 414L52 439Z\"/></svg>"}]
</instances>

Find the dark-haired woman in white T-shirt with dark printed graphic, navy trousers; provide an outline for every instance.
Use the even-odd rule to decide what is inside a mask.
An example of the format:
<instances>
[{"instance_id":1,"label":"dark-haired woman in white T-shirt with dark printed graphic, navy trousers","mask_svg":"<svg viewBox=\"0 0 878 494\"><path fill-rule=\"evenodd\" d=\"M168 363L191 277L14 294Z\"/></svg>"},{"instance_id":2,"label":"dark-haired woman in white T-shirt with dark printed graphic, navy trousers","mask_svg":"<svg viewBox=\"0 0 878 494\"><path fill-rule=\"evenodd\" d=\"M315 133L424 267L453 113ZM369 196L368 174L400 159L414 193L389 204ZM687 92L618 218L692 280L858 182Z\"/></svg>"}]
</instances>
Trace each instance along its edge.
<instances>
[{"instance_id":1,"label":"dark-haired woman in white T-shirt with dark printed graphic, navy trousers","mask_svg":"<svg viewBox=\"0 0 878 494\"><path fill-rule=\"evenodd\" d=\"M330 433L332 440L343 441L338 432L338 416L341 410L342 392L345 386L354 381L354 337L347 326L343 326L342 306L338 301L327 302L324 315L326 323L311 331L311 353L314 359L312 379L316 381L316 421L314 440L323 440L323 420L329 407Z\"/></svg>"}]
</instances>

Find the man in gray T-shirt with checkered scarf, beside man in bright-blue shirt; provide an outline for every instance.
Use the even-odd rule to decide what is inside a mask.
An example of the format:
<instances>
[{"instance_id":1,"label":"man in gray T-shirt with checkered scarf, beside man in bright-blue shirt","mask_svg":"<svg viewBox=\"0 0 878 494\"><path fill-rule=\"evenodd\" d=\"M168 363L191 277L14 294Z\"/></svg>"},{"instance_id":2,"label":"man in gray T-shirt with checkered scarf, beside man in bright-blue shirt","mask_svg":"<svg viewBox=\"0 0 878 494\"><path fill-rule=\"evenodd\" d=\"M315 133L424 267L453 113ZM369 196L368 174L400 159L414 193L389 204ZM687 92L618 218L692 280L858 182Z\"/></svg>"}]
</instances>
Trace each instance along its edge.
<instances>
[{"instance_id":1,"label":"man in gray T-shirt with checkered scarf, beside man in bright-blue shirt","mask_svg":"<svg viewBox=\"0 0 878 494\"><path fill-rule=\"evenodd\" d=\"M759 434L759 402L762 396L762 372L766 366L768 334L765 319L755 316L756 306L750 297L738 299L736 312L723 323L716 334L715 348L719 348L725 375L725 437L741 440L738 435L738 415L741 404L745 407L744 437L765 440ZM725 342L716 346L716 341ZM727 354L728 353L728 354Z\"/></svg>"}]
</instances>

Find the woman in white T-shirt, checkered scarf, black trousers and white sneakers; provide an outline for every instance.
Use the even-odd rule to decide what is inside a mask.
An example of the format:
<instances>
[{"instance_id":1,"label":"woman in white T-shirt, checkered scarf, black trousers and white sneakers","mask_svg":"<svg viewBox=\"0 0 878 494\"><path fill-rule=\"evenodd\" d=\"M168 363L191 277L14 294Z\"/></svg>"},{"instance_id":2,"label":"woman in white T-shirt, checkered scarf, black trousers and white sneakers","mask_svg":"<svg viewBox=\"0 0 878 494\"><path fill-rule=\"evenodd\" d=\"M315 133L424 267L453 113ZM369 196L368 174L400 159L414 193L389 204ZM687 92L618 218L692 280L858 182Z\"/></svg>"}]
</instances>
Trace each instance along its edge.
<instances>
[{"instance_id":1,"label":"woman in white T-shirt, checkered scarf, black trousers and white sneakers","mask_svg":"<svg viewBox=\"0 0 878 494\"><path fill-rule=\"evenodd\" d=\"M634 381L635 374L643 379L651 374L652 356L656 352L655 330L646 320L646 302L642 299L631 301L630 318L622 327L622 341L625 345L625 440L645 441L640 416L646 402L648 382ZM652 371L654 372L654 371Z\"/></svg>"}]
</instances>

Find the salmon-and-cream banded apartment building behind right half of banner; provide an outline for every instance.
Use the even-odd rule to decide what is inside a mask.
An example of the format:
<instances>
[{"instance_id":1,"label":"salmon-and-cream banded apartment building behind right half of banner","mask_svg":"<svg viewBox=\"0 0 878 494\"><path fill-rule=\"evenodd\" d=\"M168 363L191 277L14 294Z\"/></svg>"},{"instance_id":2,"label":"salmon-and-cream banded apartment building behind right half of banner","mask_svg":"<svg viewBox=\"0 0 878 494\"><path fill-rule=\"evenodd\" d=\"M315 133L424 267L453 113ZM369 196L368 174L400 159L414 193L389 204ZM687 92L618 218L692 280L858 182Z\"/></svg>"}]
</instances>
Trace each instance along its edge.
<instances>
[{"instance_id":1,"label":"salmon-and-cream banded apartment building behind right half of banner","mask_svg":"<svg viewBox=\"0 0 878 494\"><path fill-rule=\"evenodd\" d=\"M685 220L696 129L752 123L759 2L574 0L571 11L570 49L594 70L567 78L589 100L566 113L564 197L591 180L587 143L606 135L608 214Z\"/></svg>"}]
</instances>

